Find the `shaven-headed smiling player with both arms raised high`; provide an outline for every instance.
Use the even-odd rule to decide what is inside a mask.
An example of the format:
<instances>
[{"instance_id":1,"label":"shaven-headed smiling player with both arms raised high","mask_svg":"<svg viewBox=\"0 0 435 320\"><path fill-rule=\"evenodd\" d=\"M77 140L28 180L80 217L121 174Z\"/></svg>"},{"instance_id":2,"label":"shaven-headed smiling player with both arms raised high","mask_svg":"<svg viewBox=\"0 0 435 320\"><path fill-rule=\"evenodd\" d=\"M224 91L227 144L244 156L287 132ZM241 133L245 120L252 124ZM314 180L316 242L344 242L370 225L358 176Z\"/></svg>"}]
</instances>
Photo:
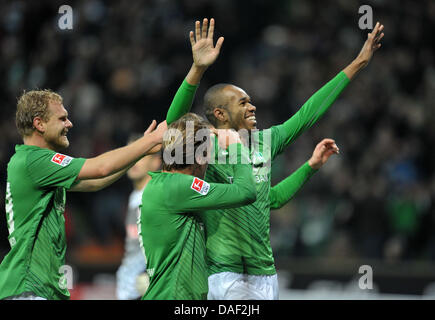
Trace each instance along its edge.
<instances>
[{"instance_id":1,"label":"shaven-headed smiling player with both arms raised high","mask_svg":"<svg viewBox=\"0 0 435 320\"><path fill-rule=\"evenodd\" d=\"M168 111L168 124L189 111L203 73L219 54L223 38L214 46L214 20L210 21L208 32L207 24L204 19L201 30L197 21L195 37L190 32L194 63ZM355 60L314 93L290 119L269 129L256 130L256 107L243 89L232 84L218 84L206 92L204 111L211 124L216 128L251 132L251 141L256 146L251 148L251 160L257 188L257 200L253 204L204 214L209 299L278 299L278 280L269 236L271 196L275 197L273 200L277 194L271 194L271 172L267 164L318 121L355 75L367 66L381 46L383 29L383 25L376 23ZM258 149L264 152L258 152ZM309 164L300 168L306 170L305 177L311 169ZM217 162L210 164L205 179L231 183L232 177L233 172ZM285 195L281 196L285 198ZM284 198L281 197L281 202L285 202Z\"/></svg>"}]
</instances>

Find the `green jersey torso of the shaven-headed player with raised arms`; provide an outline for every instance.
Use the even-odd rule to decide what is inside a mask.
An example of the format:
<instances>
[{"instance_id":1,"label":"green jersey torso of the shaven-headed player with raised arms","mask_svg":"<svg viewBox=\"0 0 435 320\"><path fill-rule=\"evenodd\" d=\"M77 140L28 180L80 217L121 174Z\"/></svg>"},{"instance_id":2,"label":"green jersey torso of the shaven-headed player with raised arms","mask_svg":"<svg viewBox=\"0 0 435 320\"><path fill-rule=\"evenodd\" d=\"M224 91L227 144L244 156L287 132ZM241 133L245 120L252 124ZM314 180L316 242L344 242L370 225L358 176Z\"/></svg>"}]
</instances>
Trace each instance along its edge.
<instances>
[{"instance_id":1,"label":"green jersey torso of the shaven-headed player with raised arms","mask_svg":"<svg viewBox=\"0 0 435 320\"><path fill-rule=\"evenodd\" d=\"M251 275L276 273L269 236L271 163L285 146L283 129L275 126L251 132L250 163L257 200L242 207L207 210L201 215L206 230L209 275L225 271ZM215 163L208 166L205 174L207 181L233 182L232 168L219 160L225 154L221 149L215 153Z\"/></svg>"}]
</instances>

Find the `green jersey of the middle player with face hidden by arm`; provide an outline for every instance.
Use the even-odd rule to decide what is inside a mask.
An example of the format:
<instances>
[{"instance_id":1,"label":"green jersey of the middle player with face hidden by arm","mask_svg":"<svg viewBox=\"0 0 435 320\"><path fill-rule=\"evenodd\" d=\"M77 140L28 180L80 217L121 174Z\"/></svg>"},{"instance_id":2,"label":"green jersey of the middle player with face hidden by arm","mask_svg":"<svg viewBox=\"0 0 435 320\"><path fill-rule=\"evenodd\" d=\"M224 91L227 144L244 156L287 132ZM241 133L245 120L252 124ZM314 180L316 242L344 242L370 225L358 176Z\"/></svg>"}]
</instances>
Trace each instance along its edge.
<instances>
[{"instance_id":1,"label":"green jersey of the middle player with face hidden by arm","mask_svg":"<svg viewBox=\"0 0 435 320\"><path fill-rule=\"evenodd\" d=\"M181 173L150 173L152 179L144 189L138 221L150 276L143 299L207 298L205 237L198 213L239 207L255 200L252 167L227 166L234 173L233 184L209 184Z\"/></svg>"}]
</instances>

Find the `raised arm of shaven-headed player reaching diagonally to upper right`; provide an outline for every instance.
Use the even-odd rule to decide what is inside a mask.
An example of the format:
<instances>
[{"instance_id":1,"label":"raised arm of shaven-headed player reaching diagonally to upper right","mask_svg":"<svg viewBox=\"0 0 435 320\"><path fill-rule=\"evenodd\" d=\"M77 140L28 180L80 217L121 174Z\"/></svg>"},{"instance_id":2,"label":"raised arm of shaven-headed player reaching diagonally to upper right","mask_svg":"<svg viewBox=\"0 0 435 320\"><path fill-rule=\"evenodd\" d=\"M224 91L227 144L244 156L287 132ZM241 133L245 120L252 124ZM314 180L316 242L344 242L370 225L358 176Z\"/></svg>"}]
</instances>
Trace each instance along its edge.
<instances>
[{"instance_id":1,"label":"raised arm of shaven-headed player reaching diagonally to upper right","mask_svg":"<svg viewBox=\"0 0 435 320\"><path fill-rule=\"evenodd\" d=\"M383 38L384 26L376 24L368 35L360 53L343 71L314 93L303 106L286 122L276 126L277 130L275 145L276 154L294 141L300 134L311 128L331 105L337 100L350 80L370 62L373 53L380 48L380 40Z\"/></svg>"}]
</instances>

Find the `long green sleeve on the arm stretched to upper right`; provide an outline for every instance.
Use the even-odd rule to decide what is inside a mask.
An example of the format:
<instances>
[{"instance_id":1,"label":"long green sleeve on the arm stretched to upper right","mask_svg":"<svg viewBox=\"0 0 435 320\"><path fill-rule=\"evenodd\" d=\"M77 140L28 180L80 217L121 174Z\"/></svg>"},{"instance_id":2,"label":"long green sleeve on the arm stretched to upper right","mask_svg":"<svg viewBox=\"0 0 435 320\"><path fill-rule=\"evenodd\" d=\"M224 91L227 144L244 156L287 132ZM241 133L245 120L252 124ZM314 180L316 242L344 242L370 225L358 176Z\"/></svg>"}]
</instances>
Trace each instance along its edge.
<instances>
[{"instance_id":1,"label":"long green sleeve on the arm stretched to upper right","mask_svg":"<svg viewBox=\"0 0 435 320\"><path fill-rule=\"evenodd\" d=\"M311 128L331 107L350 80L341 71L314 93L290 119L272 129L272 159L299 135Z\"/></svg>"}]
</instances>

